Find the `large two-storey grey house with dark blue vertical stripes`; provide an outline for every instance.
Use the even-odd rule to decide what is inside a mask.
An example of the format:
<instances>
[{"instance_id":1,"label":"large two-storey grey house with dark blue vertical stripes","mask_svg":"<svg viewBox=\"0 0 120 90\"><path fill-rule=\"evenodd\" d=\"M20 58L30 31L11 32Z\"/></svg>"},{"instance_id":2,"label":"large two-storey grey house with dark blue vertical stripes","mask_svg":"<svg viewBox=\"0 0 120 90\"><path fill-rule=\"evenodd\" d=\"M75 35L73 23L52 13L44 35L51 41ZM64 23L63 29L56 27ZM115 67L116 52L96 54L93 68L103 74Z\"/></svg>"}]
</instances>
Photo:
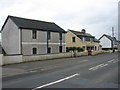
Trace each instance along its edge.
<instances>
[{"instance_id":1,"label":"large two-storey grey house with dark blue vertical stripes","mask_svg":"<svg viewBox=\"0 0 120 90\"><path fill-rule=\"evenodd\" d=\"M1 29L6 54L48 54L66 52L66 31L53 22L8 16Z\"/></svg>"}]
</instances>

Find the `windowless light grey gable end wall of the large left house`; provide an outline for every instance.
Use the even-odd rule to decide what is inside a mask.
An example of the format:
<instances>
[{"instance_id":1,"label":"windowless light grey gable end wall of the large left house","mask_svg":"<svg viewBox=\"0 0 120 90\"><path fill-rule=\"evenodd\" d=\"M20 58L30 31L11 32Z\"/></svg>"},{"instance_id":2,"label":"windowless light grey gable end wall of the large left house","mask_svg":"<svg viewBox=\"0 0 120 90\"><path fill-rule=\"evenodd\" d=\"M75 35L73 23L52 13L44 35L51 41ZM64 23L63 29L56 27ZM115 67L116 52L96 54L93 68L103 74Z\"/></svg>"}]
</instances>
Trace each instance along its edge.
<instances>
[{"instance_id":1,"label":"windowless light grey gable end wall of the large left house","mask_svg":"<svg viewBox=\"0 0 120 90\"><path fill-rule=\"evenodd\" d=\"M2 30L2 47L7 54L20 54L20 30L8 19Z\"/></svg>"}]
</instances>

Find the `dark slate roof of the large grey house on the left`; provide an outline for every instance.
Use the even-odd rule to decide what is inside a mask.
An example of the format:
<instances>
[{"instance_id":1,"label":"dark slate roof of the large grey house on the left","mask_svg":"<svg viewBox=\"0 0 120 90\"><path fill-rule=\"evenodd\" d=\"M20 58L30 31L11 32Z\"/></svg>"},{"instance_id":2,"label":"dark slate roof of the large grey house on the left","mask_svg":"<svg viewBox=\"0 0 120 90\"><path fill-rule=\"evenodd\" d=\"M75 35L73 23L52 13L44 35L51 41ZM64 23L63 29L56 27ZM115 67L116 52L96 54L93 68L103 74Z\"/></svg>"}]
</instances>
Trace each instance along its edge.
<instances>
[{"instance_id":1,"label":"dark slate roof of the large grey house on the left","mask_svg":"<svg viewBox=\"0 0 120 90\"><path fill-rule=\"evenodd\" d=\"M53 31L53 32L66 33L65 30L63 30L61 27L59 27L53 22L26 19L26 18L15 17L15 16L8 16L8 18L10 18L19 28L33 29L33 30L37 29L37 30L45 30L45 31L48 30L48 31ZM2 29L4 28L4 25Z\"/></svg>"}]
</instances>

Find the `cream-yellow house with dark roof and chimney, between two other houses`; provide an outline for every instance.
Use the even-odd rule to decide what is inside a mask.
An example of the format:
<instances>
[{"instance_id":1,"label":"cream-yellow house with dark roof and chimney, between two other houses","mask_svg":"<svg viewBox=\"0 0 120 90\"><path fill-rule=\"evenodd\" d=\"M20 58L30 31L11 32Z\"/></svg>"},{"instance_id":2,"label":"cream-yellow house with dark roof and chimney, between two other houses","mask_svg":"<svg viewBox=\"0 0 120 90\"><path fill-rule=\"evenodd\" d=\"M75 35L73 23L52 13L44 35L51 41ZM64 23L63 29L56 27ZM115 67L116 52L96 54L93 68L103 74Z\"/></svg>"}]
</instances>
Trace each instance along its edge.
<instances>
[{"instance_id":1,"label":"cream-yellow house with dark roof and chimney, between two other houses","mask_svg":"<svg viewBox=\"0 0 120 90\"><path fill-rule=\"evenodd\" d=\"M86 33L85 29L81 32L69 30L66 34L66 47L81 47L84 50L101 50L99 41L89 33Z\"/></svg>"}]
</instances>

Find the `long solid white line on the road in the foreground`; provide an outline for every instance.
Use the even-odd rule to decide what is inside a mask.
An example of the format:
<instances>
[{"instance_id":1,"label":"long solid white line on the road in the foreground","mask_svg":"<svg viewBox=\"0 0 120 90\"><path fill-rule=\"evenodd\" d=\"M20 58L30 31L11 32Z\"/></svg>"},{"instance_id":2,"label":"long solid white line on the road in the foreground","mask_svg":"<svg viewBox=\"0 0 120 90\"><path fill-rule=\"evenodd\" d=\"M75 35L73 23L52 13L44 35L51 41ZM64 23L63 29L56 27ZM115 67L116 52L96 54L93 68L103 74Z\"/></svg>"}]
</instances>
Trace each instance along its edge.
<instances>
[{"instance_id":1,"label":"long solid white line on the road in the foreground","mask_svg":"<svg viewBox=\"0 0 120 90\"><path fill-rule=\"evenodd\" d=\"M57 80L57 81L54 81L54 82L51 82L51 83L48 83L48 84L39 86L39 87L37 87L37 88L35 88L35 89L32 89L32 90L36 90L36 89L39 89L39 88L43 88L43 87L46 87L46 86L50 86L50 85L52 85L52 84L56 84L56 83L62 82L62 81L64 81L64 80L73 78L73 77L78 76L78 75L80 75L80 74L76 73L76 74L71 75L71 76L69 76L69 77L66 77L66 78L63 78L63 79L60 79L60 80Z\"/></svg>"}]
</instances>

